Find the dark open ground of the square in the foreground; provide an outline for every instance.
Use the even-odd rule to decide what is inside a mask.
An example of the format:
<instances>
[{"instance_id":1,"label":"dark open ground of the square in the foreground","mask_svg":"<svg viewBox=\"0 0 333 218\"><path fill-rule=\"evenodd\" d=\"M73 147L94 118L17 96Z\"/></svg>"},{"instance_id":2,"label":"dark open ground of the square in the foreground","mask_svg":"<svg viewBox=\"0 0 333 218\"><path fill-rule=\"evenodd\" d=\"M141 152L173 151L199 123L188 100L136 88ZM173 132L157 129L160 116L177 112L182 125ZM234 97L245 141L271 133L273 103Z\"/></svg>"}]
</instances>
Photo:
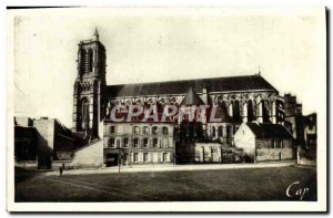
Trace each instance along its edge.
<instances>
[{"instance_id":1,"label":"dark open ground of the square in the foreground","mask_svg":"<svg viewBox=\"0 0 333 218\"><path fill-rule=\"evenodd\" d=\"M316 200L316 170L296 166L46 176L17 180L16 201ZM297 183L299 181L299 183ZM295 183L294 185L292 185ZM286 196L287 187L289 194Z\"/></svg>"}]
</instances>

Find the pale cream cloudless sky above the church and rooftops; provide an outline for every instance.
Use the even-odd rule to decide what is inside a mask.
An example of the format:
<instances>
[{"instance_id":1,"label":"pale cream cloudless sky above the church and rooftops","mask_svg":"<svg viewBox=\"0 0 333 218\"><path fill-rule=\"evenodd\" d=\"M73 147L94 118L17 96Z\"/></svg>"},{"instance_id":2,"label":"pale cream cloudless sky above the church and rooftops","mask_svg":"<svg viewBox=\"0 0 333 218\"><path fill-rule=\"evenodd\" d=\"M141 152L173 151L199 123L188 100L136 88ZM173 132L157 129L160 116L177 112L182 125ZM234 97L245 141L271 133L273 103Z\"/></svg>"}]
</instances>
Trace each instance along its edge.
<instances>
[{"instance_id":1,"label":"pale cream cloudless sky above the church and rooftops","mask_svg":"<svg viewBox=\"0 0 333 218\"><path fill-rule=\"evenodd\" d=\"M323 8L39 9L12 18L16 116L72 127L78 43L95 27L108 85L260 70L280 95L295 94L304 114L326 102Z\"/></svg>"}]
</instances>

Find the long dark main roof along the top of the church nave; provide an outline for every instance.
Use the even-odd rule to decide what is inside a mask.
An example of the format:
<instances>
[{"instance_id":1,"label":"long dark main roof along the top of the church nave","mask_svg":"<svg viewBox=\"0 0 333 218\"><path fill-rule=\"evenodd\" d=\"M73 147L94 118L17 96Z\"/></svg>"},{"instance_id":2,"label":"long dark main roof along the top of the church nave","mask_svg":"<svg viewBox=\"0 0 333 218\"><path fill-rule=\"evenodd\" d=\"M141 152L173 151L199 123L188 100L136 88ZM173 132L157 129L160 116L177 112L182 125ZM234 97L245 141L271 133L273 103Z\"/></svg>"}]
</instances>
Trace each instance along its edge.
<instances>
[{"instance_id":1,"label":"long dark main roof along the top of the church nave","mask_svg":"<svg viewBox=\"0 0 333 218\"><path fill-rule=\"evenodd\" d=\"M264 80L261 75L255 74L230 77L109 85L107 87L107 93L109 97L185 94L189 87L193 87L193 90L198 93L201 93L202 89L208 89L209 92L235 92L251 90L278 92L266 80Z\"/></svg>"}]
</instances>

